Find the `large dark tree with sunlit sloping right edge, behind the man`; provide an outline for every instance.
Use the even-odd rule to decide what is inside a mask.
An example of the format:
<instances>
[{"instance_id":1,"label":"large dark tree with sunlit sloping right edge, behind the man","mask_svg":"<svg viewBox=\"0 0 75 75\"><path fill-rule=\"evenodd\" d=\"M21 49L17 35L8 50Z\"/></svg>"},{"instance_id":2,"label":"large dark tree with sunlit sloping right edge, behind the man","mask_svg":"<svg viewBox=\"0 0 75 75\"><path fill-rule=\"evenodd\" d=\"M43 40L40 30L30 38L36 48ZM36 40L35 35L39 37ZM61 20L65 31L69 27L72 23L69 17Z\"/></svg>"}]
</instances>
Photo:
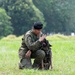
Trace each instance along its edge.
<instances>
[{"instance_id":1,"label":"large dark tree with sunlit sloping right edge, behind the man","mask_svg":"<svg viewBox=\"0 0 75 75\"><path fill-rule=\"evenodd\" d=\"M32 0L5 0L2 3L2 7L11 17L16 35L21 35L31 29L35 21L45 23L43 14L33 5Z\"/></svg>"}]
</instances>

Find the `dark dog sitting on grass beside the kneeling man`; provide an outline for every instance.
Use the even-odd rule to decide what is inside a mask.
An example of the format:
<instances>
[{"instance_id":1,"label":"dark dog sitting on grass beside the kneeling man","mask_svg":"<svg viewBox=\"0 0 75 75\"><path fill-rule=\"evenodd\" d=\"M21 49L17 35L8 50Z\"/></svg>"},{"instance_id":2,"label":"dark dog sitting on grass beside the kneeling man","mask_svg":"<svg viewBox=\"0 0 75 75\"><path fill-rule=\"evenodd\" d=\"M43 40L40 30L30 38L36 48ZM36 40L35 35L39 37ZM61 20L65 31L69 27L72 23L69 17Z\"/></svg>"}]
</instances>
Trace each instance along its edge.
<instances>
[{"instance_id":1,"label":"dark dog sitting on grass beside the kneeling man","mask_svg":"<svg viewBox=\"0 0 75 75\"><path fill-rule=\"evenodd\" d=\"M48 40L44 39L42 42L42 50L45 52L45 58L41 61L41 69L48 70L49 68L53 68L52 66L52 45L49 44Z\"/></svg>"}]
</instances>

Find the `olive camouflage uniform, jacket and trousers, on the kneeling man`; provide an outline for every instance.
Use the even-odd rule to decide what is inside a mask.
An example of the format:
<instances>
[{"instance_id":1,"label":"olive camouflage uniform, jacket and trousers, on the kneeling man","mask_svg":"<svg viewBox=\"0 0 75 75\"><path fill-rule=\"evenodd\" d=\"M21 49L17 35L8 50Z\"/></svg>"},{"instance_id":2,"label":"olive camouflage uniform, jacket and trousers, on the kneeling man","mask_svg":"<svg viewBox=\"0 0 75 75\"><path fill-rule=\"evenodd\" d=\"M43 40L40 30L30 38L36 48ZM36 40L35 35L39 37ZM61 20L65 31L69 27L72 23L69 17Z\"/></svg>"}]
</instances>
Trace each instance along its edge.
<instances>
[{"instance_id":1,"label":"olive camouflage uniform, jacket and trousers, on the kneeling man","mask_svg":"<svg viewBox=\"0 0 75 75\"><path fill-rule=\"evenodd\" d=\"M19 68L32 68L31 58L34 58L33 67L38 67L41 60L45 57L45 52L41 50L42 42L39 41L39 36L35 35L32 30L24 34L22 38L22 45L19 49ZM31 50L31 57L25 58L25 54L28 50Z\"/></svg>"}]
</instances>

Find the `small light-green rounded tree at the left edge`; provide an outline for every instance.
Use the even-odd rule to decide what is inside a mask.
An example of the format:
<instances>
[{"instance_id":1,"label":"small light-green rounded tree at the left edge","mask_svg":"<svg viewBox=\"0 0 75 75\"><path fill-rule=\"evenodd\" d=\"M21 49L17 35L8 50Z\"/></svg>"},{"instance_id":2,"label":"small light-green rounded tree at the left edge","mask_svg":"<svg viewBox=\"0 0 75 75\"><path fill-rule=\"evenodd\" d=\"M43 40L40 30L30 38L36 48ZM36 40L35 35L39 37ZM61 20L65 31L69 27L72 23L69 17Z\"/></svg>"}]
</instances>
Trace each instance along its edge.
<instances>
[{"instance_id":1,"label":"small light-green rounded tree at the left edge","mask_svg":"<svg viewBox=\"0 0 75 75\"><path fill-rule=\"evenodd\" d=\"M0 8L0 37L7 36L12 33L10 17L6 14L4 9Z\"/></svg>"}]
</instances>

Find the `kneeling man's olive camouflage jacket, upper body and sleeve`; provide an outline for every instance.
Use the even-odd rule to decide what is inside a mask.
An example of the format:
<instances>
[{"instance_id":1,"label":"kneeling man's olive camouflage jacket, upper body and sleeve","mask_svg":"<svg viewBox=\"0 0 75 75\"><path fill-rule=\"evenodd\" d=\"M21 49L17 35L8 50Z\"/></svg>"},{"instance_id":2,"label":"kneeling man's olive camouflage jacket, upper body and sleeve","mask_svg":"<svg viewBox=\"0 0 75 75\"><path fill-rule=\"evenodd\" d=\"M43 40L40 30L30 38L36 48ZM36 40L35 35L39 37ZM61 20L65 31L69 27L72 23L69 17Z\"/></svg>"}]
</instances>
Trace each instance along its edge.
<instances>
[{"instance_id":1,"label":"kneeling man's olive camouflage jacket, upper body and sleeve","mask_svg":"<svg viewBox=\"0 0 75 75\"><path fill-rule=\"evenodd\" d=\"M27 52L28 50L39 50L42 45L42 43L39 41L40 36L41 34L37 36L32 32L32 30L28 31L22 38L21 47L24 48L25 52Z\"/></svg>"}]
</instances>

